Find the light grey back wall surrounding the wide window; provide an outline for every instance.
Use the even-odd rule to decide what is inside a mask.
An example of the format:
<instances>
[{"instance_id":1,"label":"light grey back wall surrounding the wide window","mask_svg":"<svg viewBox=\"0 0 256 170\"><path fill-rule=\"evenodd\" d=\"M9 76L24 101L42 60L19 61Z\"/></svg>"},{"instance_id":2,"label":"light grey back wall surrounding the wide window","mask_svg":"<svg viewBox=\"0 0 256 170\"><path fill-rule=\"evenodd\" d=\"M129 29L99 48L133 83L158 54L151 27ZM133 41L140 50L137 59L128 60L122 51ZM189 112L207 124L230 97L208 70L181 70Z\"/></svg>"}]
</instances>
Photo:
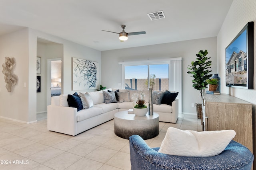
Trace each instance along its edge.
<instances>
[{"instance_id":1,"label":"light grey back wall surrounding the wide window","mask_svg":"<svg viewBox=\"0 0 256 170\"><path fill-rule=\"evenodd\" d=\"M192 87L192 78L187 74L187 67L191 61L195 61L196 54L205 49L209 52L207 57L212 57L212 73L216 73L216 37L102 51L102 85L107 88L121 88L118 86L121 82L121 65L118 62L182 57L182 112L196 113L196 107L191 107L191 103L201 103L201 97L200 92Z\"/></svg>"}]
</instances>

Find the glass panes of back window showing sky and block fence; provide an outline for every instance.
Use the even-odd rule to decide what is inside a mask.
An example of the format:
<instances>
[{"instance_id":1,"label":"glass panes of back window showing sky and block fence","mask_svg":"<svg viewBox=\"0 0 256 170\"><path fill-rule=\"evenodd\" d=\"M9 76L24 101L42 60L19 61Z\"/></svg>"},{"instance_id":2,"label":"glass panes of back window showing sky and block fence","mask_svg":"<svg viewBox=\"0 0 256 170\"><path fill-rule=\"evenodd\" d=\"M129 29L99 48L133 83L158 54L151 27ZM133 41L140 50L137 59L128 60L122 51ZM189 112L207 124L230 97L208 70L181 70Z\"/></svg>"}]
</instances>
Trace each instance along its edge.
<instances>
[{"instance_id":1,"label":"glass panes of back window showing sky and block fence","mask_svg":"<svg viewBox=\"0 0 256 170\"><path fill-rule=\"evenodd\" d=\"M124 66L124 74L125 89L169 89L169 64ZM150 86L148 86L148 83Z\"/></svg>"}]
</instances>

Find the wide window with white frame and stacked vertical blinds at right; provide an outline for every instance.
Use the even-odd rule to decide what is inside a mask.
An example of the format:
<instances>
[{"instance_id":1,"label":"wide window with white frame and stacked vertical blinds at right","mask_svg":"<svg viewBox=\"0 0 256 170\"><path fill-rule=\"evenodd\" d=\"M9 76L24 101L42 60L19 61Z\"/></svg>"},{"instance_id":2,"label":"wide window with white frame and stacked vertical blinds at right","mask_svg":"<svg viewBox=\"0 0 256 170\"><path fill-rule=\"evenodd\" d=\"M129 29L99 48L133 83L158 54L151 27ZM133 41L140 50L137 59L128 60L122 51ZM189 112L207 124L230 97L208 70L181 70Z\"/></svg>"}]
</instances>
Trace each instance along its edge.
<instances>
[{"instance_id":1,"label":"wide window with white frame and stacked vertical blinds at right","mask_svg":"<svg viewBox=\"0 0 256 170\"><path fill-rule=\"evenodd\" d=\"M179 113L182 113L182 58L147 61L126 61L122 64L122 89L179 92ZM148 79L149 78L149 79ZM154 78L154 82L153 82Z\"/></svg>"}]
</instances>

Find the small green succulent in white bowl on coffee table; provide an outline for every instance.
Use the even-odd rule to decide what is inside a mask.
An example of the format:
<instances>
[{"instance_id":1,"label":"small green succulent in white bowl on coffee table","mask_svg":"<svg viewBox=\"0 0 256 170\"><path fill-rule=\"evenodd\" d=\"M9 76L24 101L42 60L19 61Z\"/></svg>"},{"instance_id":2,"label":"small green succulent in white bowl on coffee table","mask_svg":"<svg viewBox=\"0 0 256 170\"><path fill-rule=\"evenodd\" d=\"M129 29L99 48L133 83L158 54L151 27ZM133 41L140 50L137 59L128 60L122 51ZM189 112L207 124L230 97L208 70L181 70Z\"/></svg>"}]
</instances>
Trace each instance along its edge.
<instances>
[{"instance_id":1,"label":"small green succulent in white bowl on coffee table","mask_svg":"<svg viewBox=\"0 0 256 170\"><path fill-rule=\"evenodd\" d=\"M133 100L133 112L137 116L144 116L148 112L148 107L145 105L144 100L145 94L142 92L137 92L132 95Z\"/></svg>"}]
</instances>

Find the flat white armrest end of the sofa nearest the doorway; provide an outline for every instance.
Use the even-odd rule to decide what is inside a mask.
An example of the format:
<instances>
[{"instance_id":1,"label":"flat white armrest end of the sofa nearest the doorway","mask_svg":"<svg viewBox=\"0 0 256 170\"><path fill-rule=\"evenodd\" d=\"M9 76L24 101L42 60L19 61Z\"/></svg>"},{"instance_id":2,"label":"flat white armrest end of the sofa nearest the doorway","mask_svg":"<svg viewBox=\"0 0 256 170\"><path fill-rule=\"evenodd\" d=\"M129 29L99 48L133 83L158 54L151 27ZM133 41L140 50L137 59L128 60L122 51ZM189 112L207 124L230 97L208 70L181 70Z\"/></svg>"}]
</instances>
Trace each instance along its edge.
<instances>
[{"instance_id":1,"label":"flat white armrest end of the sofa nearest the doorway","mask_svg":"<svg viewBox=\"0 0 256 170\"><path fill-rule=\"evenodd\" d=\"M47 106L47 128L50 131L76 134L77 108L63 106Z\"/></svg>"}]
</instances>

